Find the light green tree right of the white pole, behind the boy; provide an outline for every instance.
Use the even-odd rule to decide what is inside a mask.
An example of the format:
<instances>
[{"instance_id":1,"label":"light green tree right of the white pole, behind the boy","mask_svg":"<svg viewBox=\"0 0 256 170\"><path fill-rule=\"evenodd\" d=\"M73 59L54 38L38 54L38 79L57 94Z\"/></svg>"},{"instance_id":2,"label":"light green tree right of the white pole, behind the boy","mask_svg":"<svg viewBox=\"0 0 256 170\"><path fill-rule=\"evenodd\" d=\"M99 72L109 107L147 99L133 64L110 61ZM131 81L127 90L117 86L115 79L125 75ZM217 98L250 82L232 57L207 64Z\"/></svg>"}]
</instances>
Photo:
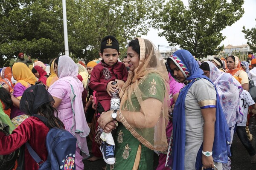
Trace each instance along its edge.
<instances>
[{"instance_id":1,"label":"light green tree right of the white pole, behind the boy","mask_svg":"<svg viewBox=\"0 0 256 170\"><path fill-rule=\"evenodd\" d=\"M69 1L67 13L70 14L68 30L73 31L69 37L72 53L85 61L98 58L102 38L113 35L119 41L121 55L125 55L127 42L147 33L150 19L158 10L157 4L163 1ZM74 6L77 11L73 10Z\"/></svg>"}]
</instances>

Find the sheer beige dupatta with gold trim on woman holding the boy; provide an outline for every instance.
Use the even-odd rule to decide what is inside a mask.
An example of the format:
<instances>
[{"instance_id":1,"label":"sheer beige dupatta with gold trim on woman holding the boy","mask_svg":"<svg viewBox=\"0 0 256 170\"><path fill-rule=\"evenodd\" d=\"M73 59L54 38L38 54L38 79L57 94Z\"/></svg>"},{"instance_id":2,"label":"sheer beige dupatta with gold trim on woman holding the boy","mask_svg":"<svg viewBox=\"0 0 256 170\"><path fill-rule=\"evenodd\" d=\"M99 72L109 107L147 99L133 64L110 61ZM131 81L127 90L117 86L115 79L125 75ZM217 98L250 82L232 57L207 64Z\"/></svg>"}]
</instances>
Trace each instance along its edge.
<instances>
[{"instance_id":1,"label":"sheer beige dupatta with gold trim on woman holding the boy","mask_svg":"<svg viewBox=\"0 0 256 170\"><path fill-rule=\"evenodd\" d=\"M160 150L164 151L167 149L168 144L166 140L166 126L168 123L168 105L169 105L169 78L168 73L166 71L165 63L163 59L161 59L161 54L157 50L157 48L151 43L149 40L137 38L140 44L140 63L139 66L128 75L127 82L125 82L122 91L120 92L121 97L121 111L119 112L119 119L122 124L131 132L131 134L136 137L142 144L148 147L151 150ZM145 95L139 89L140 80L143 79L148 74L156 74L162 80L164 84L164 91L162 95L164 99L161 105L162 111L158 116L157 124L152 128L137 128L141 127L141 125L136 125L132 127L126 121L125 117L122 115L122 111L128 111L129 113L136 111L136 105L131 101L131 95L135 94L136 98L139 102L141 112L145 113L144 108L150 107L148 105L143 105L142 96ZM151 75L152 75L151 74ZM149 92L148 92L149 93ZM129 106L128 106L129 105ZM138 104L137 104L138 105ZM129 108L129 110L128 110ZM132 109L131 109L132 108ZM152 108L152 113L154 113L154 108ZM129 114L130 115L130 114ZM134 115L133 119L136 122L137 119L140 119ZM146 120L147 122L147 120ZM145 124L146 124L145 122ZM144 126L143 126L144 127ZM148 136L153 136L152 138L148 138ZM149 140L148 140L149 139Z\"/></svg>"}]
</instances>

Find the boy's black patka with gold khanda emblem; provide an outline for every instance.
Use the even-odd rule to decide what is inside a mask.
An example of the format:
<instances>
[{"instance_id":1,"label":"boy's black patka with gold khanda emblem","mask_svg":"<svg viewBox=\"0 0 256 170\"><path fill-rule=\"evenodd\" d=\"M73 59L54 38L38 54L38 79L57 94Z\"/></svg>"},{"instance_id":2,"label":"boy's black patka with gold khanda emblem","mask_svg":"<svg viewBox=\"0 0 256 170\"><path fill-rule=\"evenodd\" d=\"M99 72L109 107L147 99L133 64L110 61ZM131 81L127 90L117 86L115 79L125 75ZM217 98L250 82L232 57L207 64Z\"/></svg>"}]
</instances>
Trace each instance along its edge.
<instances>
[{"instance_id":1,"label":"boy's black patka with gold khanda emblem","mask_svg":"<svg viewBox=\"0 0 256 170\"><path fill-rule=\"evenodd\" d=\"M102 39L100 51L102 52L105 48L113 48L119 52L119 42L112 35L108 35Z\"/></svg>"}]
</instances>

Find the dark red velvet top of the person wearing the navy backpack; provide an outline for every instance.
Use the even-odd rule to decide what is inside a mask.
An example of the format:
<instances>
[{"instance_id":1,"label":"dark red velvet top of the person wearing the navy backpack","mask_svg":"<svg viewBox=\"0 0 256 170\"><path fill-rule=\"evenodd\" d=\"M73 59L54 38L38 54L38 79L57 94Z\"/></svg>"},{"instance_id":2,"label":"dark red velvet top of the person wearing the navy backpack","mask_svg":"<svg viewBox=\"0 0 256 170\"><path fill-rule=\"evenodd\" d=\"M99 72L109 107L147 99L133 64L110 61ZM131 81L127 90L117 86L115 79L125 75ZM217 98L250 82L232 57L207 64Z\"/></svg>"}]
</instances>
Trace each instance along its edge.
<instances>
[{"instance_id":1,"label":"dark red velvet top of the person wearing the navy backpack","mask_svg":"<svg viewBox=\"0 0 256 170\"><path fill-rule=\"evenodd\" d=\"M22 122L12 134L6 136L0 132L0 154L5 155L17 150L27 141L43 160L47 160L48 152L45 144L49 127L36 117L29 117ZM38 170L39 166L25 148L25 170Z\"/></svg>"}]
</instances>

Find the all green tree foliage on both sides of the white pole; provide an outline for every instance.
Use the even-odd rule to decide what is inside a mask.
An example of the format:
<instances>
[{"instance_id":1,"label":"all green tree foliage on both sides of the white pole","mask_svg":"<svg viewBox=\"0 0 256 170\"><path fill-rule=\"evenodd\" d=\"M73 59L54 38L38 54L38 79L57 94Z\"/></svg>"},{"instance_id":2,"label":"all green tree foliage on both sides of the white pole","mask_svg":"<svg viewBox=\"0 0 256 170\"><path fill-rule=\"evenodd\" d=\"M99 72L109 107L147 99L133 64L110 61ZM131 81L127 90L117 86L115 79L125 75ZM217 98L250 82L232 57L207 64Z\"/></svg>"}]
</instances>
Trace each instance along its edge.
<instances>
[{"instance_id":1,"label":"all green tree foliage on both sides of the white pole","mask_svg":"<svg viewBox=\"0 0 256 170\"><path fill-rule=\"evenodd\" d=\"M98 58L100 42L109 34L124 52L128 40L147 33L162 2L66 0L70 56ZM43 62L64 53L61 0L0 0L0 9L0 67L19 52Z\"/></svg>"}]
</instances>

